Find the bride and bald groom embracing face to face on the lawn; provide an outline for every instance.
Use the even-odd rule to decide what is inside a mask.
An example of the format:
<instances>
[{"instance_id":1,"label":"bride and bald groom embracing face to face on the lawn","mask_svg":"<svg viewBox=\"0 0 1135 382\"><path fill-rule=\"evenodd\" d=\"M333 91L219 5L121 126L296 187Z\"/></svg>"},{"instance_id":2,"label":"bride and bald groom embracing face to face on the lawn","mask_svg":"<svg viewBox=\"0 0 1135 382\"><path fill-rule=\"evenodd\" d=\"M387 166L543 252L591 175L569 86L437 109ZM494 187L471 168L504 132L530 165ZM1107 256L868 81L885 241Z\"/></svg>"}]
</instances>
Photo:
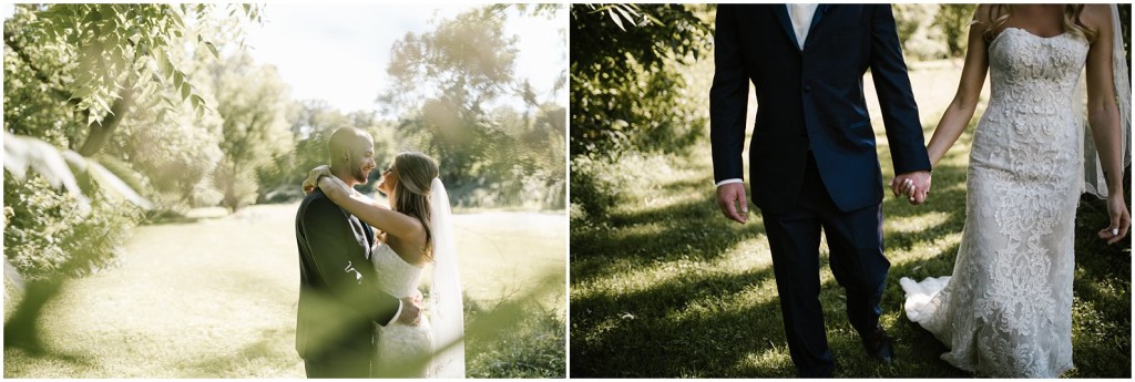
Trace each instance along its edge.
<instances>
[{"instance_id":1,"label":"bride and bald groom embracing face to face on the lawn","mask_svg":"<svg viewBox=\"0 0 1135 382\"><path fill-rule=\"evenodd\" d=\"M404 152L376 187L355 192L375 163L370 134L328 139L330 165L303 181L296 214L296 350L309 377L464 377L464 320L452 214L438 164ZM428 317L418 290L432 270Z\"/></svg>"}]
</instances>

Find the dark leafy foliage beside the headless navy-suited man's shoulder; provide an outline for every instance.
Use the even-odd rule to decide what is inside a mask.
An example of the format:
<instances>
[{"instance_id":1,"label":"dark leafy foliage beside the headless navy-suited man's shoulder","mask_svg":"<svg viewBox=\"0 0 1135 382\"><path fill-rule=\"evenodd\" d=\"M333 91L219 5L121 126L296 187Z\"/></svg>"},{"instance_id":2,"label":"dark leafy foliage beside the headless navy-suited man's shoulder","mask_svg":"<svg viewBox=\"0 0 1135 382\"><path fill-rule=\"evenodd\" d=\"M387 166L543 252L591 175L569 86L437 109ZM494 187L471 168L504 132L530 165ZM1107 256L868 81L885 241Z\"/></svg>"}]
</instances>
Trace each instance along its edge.
<instances>
[{"instance_id":1,"label":"dark leafy foliage beside the headless navy-suited man's shoulder","mask_svg":"<svg viewBox=\"0 0 1135 382\"><path fill-rule=\"evenodd\" d=\"M681 152L695 142L705 108L688 102L681 73L711 54L708 14L706 6L572 5L572 158Z\"/></svg>"}]
</instances>

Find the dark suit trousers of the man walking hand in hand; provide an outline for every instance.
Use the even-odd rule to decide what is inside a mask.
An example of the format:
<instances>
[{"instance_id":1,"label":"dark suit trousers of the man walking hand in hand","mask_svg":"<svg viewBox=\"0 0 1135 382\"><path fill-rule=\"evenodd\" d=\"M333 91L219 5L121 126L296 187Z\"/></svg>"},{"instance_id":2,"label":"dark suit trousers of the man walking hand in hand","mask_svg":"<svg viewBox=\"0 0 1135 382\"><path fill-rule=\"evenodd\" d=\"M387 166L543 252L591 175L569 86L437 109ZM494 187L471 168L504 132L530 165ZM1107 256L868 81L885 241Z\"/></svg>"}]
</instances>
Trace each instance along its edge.
<instances>
[{"instance_id":1,"label":"dark suit trousers of the man walking hand in hand","mask_svg":"<svg viewBox=\"0 0 1135 382\"><path fill-rule=\"evenodd\" d=\"M831 375L835 366L819 305L821 229L827 238L832 273L847 290L848 320L860 333L871 333L878 324L878 304L891 266L883 256L882 213L882 204L840 211L810 153L796 209L784 214L763 213L784 333L801 376Z\"/></svg>"}]
</instances>

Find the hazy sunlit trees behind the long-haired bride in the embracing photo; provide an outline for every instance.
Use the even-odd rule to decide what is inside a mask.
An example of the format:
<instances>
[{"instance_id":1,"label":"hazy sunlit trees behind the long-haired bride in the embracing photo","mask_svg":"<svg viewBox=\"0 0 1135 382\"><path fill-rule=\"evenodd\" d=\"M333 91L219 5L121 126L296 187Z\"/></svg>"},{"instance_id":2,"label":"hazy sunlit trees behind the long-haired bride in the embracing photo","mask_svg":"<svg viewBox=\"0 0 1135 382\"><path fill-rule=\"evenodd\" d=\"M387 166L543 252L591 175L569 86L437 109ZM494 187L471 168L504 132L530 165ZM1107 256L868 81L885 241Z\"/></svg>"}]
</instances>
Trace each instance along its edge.
<instances>
[{"instance_id":1,"label":"hazy sunlit trees behind the long-haired bride in the embracing photo","mask_svg":"<svg viewBox=\"0 0 1135 382\"><path fill-rule=\"evenodd\" d=\"M386 71L394 85L379 101L401 116L400 151L435 156L455 204L562 209L565 109L514 78L516 36L504 31L508 8L487 6L407 33L392 48ZM555 74L563 73L549 76ZM519 118L503 105L515 99L523 102Z\"/></svg>"}]
</instances>

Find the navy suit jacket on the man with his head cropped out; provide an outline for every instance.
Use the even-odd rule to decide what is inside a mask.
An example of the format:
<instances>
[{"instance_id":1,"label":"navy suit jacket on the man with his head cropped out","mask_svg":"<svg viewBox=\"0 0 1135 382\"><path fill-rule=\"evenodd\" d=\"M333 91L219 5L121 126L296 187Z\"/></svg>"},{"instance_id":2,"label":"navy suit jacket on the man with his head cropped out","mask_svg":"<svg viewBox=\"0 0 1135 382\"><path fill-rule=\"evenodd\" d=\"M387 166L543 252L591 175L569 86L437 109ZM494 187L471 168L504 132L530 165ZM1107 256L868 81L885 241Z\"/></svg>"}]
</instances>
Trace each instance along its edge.
<instances>
[{"instance_id":1,"label":"navy suit jacket on the man with his head cropped out","mask_svg":"<svg viewBox=\"0 0 1135 382\"><path fill-rule=\"evenodd\" d=\"M793 209L809 150L841 211L882 202L882 171L863 94L868 68L894 172L930 170L890 5L821 5L802 50L784 5L720 5L714 44L714 179L743 178L751 83L758 107L749 173L754 203L763 211Z\"/></svg>"}]
</instances>

